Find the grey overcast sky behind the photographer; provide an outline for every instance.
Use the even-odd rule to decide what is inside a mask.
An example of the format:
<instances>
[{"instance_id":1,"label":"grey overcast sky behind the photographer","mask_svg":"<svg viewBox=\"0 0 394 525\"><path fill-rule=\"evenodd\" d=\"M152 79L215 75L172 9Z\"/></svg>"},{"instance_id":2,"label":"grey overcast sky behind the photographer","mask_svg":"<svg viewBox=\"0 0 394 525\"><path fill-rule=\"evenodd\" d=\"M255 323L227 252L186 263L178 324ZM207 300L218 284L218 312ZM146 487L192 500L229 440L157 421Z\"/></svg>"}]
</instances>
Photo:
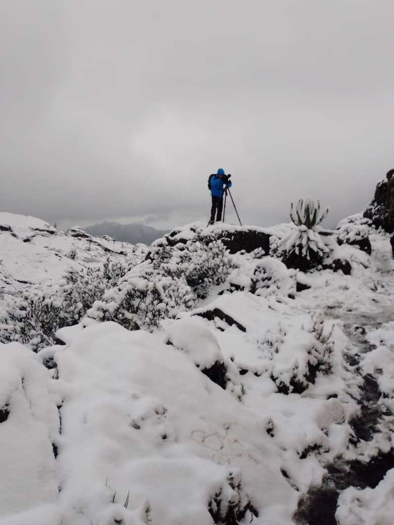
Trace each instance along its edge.
<instances>
[{"instance_id":1,"label":"grey overcast sky behind the photographer","mask_svg":"<svg viewBox=\"0 0 394 525\"><path fill-rule=\"evenodd\" d=\"M392 0L0 0L0 211L67 227L362 211L393 167ZM236 216L227 208L229 222Z\"/></svg>"}]
</instances>

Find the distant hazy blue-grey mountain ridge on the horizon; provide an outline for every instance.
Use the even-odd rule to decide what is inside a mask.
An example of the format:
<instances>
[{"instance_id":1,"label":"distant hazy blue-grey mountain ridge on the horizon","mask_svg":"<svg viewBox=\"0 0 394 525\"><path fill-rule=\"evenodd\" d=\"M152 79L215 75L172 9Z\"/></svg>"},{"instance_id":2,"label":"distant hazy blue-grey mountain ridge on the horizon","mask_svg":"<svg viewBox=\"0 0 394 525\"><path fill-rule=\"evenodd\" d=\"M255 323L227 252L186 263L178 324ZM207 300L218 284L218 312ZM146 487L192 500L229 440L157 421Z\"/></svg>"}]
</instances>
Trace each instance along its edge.
<instances>
[{"instance_id":1,"label":"distant hazy blue-grey mountain ridge on the horizon","mask_svg":"<svg viewBox=\"0 0 394 525\"><path fill-rule=\"evenodd\" d=\"M87 233L95 237L109 235L110 237L130 244L150 245L154 240L169 233L169 230L159 230L141 223L120 224L105 220L100 224L92 224L84 228Z\"/></svg>"}]
</instances>

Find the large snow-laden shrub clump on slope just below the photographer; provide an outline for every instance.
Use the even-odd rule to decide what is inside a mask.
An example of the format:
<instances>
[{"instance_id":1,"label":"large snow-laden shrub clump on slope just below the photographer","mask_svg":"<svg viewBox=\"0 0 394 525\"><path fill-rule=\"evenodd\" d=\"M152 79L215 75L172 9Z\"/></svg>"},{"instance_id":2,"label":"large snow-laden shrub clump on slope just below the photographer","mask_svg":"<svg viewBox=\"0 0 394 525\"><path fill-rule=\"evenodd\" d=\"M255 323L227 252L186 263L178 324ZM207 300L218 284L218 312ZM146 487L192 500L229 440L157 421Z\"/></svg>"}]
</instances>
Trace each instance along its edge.
<instances>
[{"instance_id":1,"label":"large snow-laden shrub clump on slope just below the photographer","mask_svg":"<svg viewBox=\"0 0 394 525\"><path fill-rule=\"evenodd\" d=\"M190 233L195 238L173 245L165 238L153 243L147 260L107 291L89 317L129 330L152 330L205 298L210 287L224 282L233 264L221 241L198 240Z\"/></svg>"}]
</instances>

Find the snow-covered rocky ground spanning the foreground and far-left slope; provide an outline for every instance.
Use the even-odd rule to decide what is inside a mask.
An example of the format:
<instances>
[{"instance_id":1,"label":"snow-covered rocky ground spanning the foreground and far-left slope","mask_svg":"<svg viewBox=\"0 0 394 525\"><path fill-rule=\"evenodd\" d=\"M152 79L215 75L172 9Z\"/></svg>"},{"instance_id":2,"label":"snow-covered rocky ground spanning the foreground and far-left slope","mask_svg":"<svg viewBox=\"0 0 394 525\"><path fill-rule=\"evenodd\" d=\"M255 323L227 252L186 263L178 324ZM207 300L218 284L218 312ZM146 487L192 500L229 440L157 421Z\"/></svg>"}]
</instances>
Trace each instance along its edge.
<instances>
[{"instance_id":1,"label":"snow-covered rocky ground spanning the foreground and far-left slope","mask_svg":"<svg viewBox=\"0 0 394 525\"><path fill-rule=\"evenodd\" d=\"M24 220L17 238L0 232L8 284L50 286L91 257L86 239L23 243ZM321 487L339 494L339 525L391 525L394 464L370 484L325 485L334 467L354 473L394 448L394 262L388 236L369 238L371 256L336 248L348 276L235 254L224 282L151 332L92 309L59 330L64 345L0 344L0 525L320 525L308 508ZM252 293L256 275L269 279Z\"/></svg>"}]
</instances>

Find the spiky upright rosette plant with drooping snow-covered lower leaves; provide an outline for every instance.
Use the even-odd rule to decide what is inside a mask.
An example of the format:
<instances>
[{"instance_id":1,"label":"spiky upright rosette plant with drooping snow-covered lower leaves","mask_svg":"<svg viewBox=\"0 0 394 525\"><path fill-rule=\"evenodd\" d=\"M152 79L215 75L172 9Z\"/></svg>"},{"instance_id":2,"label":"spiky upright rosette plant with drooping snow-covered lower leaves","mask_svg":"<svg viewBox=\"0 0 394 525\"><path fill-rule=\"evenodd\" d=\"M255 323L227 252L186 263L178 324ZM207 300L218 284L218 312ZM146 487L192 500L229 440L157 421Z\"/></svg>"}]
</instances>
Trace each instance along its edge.
<instances>
[{"instance_id":1,"label":"spiky upright rosette plant with drooping snow-covered lower leaves","mask_svg":"<svg viewBox=\"0 0 394 525\"><path fill-rule=\"evenodd\" d=\"M328 208L320 214L320 203L307 199L304 205L300 199L294 209L291 205L290 216L293 225L280 239L274 239L271 245L273 255L282 257L288 268L308 270L322 264L324 257L332 249L332 241L326 230L319 226L327 216Z\"/></svg>"}]
</instances>

